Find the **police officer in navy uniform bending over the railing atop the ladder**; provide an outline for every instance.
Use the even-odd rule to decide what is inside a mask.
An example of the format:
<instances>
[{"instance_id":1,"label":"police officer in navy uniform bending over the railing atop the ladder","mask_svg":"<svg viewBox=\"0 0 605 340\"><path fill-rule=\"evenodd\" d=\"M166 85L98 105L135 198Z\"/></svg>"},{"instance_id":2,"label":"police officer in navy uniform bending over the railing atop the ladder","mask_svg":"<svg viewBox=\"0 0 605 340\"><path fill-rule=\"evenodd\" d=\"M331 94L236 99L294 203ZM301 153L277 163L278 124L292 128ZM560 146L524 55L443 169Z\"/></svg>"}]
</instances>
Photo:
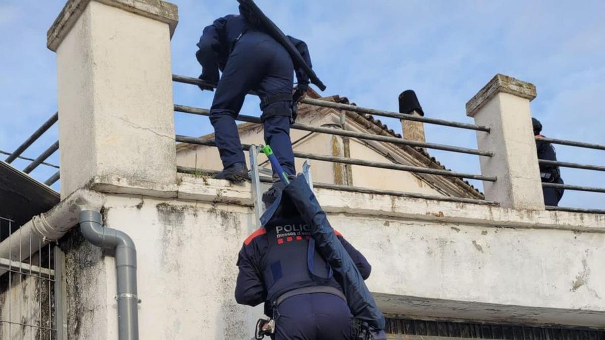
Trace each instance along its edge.
<instances>
[{"instance_id":1,"label":"police officer in navy uniform bending over the railing atop the ladder","mask_svg":"<svg viewBox=\"0 0 605 340\"><path fill-rule=\"evenodd\" d=\"M309 76L302 69L296 70L298 86L293 94L292 57L260 27L258 18L240 5L240 15L215 20L204 28L197 44L195 56L203 67L200 79L217 84L210 120L223 171L215 178L235 182L248 178L235 118L249 91L255 91L261 99L265 143L271 146L284 170L289 175L296 174L290 124L296 118L293 103L309 88ZM311 66L307 45L288 38ZM220 79L219 70L223 73ZM203 85L200 88L212 90Z\"/></svg>"}]
</instances>

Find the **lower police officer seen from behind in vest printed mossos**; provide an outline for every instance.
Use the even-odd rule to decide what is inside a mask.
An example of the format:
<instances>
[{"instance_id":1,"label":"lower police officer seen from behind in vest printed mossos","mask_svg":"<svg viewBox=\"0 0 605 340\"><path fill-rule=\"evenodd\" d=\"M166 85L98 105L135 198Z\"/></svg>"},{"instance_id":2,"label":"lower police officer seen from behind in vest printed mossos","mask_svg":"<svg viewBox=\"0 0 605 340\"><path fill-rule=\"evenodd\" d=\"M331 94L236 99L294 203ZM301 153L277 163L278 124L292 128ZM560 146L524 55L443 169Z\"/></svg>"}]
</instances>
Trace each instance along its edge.
<instances>
[{"instance_id":1,"label":"lower police officer seen from behind in vest printed mossos","mask_svg":"<svg viewBox=\"0 0 605 340\"><path fill-rule=\"evenodd\" d=\"M263 195L269 206L280 196L276 183ZM275 321L275 340L350 340L353 316L332 269L319 255L309 226L284 195L281 206L240 250L235 299L257 306ZM338 232L342 246L367 279L371 266Z\"/></svg>"}]
</instances>

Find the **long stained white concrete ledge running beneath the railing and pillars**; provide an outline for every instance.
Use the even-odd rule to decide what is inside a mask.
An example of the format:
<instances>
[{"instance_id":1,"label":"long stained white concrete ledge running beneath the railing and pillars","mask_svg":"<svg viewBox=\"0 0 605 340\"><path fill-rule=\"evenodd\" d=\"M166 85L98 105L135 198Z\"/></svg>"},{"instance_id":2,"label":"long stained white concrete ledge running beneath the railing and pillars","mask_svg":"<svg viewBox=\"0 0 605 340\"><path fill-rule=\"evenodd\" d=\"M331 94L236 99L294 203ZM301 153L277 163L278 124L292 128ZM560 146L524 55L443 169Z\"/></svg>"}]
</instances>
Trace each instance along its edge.
<instances>
[{"instance_id":1,"label":"long stained white concrete ledge running beneath the railing and pillars","mask_svg":"<svg viewBox=\"0 0 605 340\"><path fill-rule=\"evenodd\" d=\"M250 183L232 184L194 175L179 175L177 186L136 183L125 178L96 178L87 188L114 194L253 206ZM263 184L266 190L269 185ZM329 214L477 224L492 227L557 229L605 233L605 215L565 211L532 211L485 204L459 203L394 195L365 194L316 188L319 203ZM368 205L371 202L371 205Z\"/></svg>"}]
</instances>

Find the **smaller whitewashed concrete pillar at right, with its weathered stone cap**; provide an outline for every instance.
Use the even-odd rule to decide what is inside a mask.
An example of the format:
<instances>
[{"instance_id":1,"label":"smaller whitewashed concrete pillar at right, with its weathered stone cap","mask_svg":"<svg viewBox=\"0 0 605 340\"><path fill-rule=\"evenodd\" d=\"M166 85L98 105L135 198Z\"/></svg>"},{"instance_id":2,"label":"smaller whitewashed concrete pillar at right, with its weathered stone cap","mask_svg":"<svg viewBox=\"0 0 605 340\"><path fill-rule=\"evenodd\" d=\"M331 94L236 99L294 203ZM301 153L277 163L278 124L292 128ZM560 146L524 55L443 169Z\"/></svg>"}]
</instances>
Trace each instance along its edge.
<instances>
[{"instance_id":1,"label":"smaller whitewashed concrete pillar at right, with its weathered stone cap","mask_svg":"<svg viewBox=\"0 0 605 340\"><path fill-rule=\"evenodd\" d=\"M529 109L535 96L533 84L496 74L466 103L466 115L491 128L477 131L479 149L494 152L480 157L481 172L498 177L483 182L485 198L505 208L545 209Z\"/></svg>"}]
</instances>

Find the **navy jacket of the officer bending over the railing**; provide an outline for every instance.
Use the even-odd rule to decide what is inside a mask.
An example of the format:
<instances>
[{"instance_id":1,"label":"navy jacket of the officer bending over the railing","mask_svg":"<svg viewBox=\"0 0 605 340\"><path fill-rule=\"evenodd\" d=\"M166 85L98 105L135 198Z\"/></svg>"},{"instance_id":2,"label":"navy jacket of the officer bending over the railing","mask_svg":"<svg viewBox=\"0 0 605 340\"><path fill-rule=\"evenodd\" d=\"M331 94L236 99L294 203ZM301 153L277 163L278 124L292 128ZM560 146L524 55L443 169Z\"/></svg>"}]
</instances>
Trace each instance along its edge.
<instances>
[{"instance_id":1,"label":"navy jacket of the officer bending over the railing","mask_svg":"<svg viewBox=\"0 0 605 340\"><path fill-rule=\"evenodd\" d=\"M237 39L241 34L245 34L247 30L256 30L256 28L250 27L241 15L227 15L218 18L212 25L204 28L200 42L197 43L199 50L195 53L198 62L203 67L202 79L211 83L218 83L220 79L218 71L224 70ZM309 67L312 67L307 44L291 36L288 36L288 38ZM299 84L309 83L309 76L301 68L297 68L295 71Z\"/></svg>"}]
</instances>

